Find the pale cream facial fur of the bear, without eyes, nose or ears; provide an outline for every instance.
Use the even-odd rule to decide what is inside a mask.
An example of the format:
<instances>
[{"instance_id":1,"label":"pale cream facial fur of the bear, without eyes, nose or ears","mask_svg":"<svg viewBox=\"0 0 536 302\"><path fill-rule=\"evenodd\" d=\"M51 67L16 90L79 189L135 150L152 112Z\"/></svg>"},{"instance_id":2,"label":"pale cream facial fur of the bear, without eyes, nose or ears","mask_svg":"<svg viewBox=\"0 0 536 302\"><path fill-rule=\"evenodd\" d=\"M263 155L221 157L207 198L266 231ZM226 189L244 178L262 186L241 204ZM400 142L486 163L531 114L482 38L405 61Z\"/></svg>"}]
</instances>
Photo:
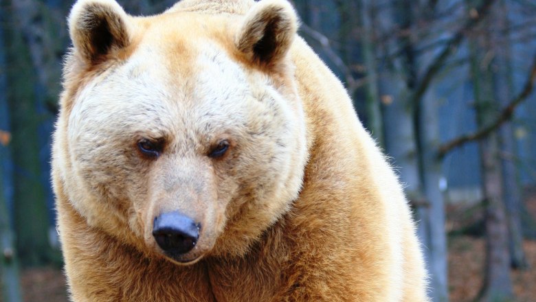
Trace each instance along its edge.
<instances>
[{"instance_id":1,"label":"pale cream facial fur of the bear, without eyes, nose or ears","mask_svg":"<svg viewBox=\"0 0 536 302\"><path fill-rule=\"evenodd\" d=\"M124 221L110 220L113 211L158 252L153 220L179 211L203 226L186 259L212 252L219 238L214 252L247 251L297 197L306 148L291 87L278 90L267 75L233 62L217 41L195 35L206 31L199 27L180 37L166 32L175 39L146 29L127 60L83 87L68 122L76 176L66 178L89 224L122 237ZM188 60L176 64L181 57ZM142 159L139 139L165 139L166 150L157 161ZM230 154L210 159L221 139L231 142Z\"/></svg>"}]
</instances>

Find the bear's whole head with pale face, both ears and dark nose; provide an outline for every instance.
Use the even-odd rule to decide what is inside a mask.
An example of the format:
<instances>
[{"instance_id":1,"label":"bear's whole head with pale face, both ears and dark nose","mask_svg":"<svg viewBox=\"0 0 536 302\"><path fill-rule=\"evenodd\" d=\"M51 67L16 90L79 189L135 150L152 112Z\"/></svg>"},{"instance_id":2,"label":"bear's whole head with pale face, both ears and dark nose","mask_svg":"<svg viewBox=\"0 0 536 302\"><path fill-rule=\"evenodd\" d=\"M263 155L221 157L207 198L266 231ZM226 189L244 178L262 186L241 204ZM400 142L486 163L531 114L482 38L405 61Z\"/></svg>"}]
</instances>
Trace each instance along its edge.
<instances>
[{"instance_id":1,"label":"bear's whole head with pale face, both ears and dark nose","mask_svg":"<svg viewBox=\"0 0 536 302\"><path fill-rule=\"evenodd\" d=\"M74 208L177 263L245 253L298 196L306 161L288 3L133 18L83 0L69 26L63 178Z\"/></svg>"}]
</instances>

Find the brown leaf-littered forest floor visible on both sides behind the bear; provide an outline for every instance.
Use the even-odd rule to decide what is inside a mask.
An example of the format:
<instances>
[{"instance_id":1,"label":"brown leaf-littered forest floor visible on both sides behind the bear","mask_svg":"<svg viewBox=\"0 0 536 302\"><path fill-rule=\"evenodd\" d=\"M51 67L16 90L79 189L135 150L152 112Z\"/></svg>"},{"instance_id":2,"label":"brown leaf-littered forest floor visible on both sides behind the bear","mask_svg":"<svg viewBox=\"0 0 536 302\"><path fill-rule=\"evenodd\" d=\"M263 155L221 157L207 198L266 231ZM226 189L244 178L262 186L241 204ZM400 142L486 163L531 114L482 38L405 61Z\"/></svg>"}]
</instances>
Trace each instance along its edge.
<instances>
[{"instance_id":1,"label":"brown leaf-littered forest floor visible on both sides behind the bear","mask_svg":"<svg viewBox=\"0 0 536 302\"><path fill-rule=\"evenodd\" d=\"M533 193L536 193L533 192ZM526 205L536 217L536 194ZM447 231L456 231L474 222L480 215L475 207L461 205L447 208ZM512 270L515 295L519 302L536 301L536 241L524 242L528 257L527 270ZM484 238L482 236L449 236L449 290L451 302L473 301L482 287L484 276ZM31 268L22 272L24 301L67 301L65 278L59 268Z\"/></svg>"}]
</instances>

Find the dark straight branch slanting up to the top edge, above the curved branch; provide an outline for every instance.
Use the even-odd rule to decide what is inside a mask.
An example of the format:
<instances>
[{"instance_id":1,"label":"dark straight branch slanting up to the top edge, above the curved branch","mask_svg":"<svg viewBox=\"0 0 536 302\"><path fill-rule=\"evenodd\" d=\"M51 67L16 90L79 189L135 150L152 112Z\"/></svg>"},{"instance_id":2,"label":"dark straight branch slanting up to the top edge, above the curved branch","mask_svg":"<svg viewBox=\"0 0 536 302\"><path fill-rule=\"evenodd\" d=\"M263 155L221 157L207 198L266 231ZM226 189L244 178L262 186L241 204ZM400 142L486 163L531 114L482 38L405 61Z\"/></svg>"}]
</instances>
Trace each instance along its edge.
<instances>
[{"instance_id":1,"label":"dark straight branch slanting up to the top edge, above the curved branch","mask_svg":"<svg viewBox=\"0 0 536 302\"><path fill-rule=\"evenodd\" d=\"M434 80L435 75L445 64L445 60L447 60L451 52L454 51L458 45L460 45L467 32L480 23L482 19L484 19L484 16L489 12L489 8L491 8L493 2L495 2L495 0L485 0L480 7L469 12L470 17L465 25L460 28L460 30L458 30L458 32L456 32L456 34L454 34L449 41L447 41L445 47L443 47L443 51L441 51L440 54L434 58L432 64L429 65L424 75L421 77L421 80L418 81L415 93L412 96L412 100L414 100L414 102L419 102L421 100L428 89L429 84L432 82L432 80Z\"/></svg>"}]
</instances>

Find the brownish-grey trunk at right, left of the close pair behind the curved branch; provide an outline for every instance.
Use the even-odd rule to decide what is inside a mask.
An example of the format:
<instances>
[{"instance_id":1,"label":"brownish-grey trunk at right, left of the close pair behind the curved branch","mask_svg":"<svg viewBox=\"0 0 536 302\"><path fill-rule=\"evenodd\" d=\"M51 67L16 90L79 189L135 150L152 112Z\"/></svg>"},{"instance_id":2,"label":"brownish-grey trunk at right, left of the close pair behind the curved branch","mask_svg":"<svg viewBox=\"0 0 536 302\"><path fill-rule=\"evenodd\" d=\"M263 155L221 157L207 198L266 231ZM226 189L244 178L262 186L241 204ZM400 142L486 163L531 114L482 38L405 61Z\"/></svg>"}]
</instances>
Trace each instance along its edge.
<instances>
[{"instance_id":1,"label":"brownish-grey trunk at right, left of the close pair behind the curved branch","mask_svg":"<svg viewBox=\"0 0 536 302\"><path fill-rule=\"evenodd\" d=\"M473 78L478 126L483 127L494 121L499 104L495 99L493 60L485 61L486 54L493 55L491 23L487 17L478 36L471 46L471 75ZM482 191L486 228L486 275L480 294L481 301L511 301L513 298L510 276L510 255L508 249L508 222L503 198L503 181L500 161L500 144L497 132L480 141L482 167Z\"/></svg>"}]
</instances>

